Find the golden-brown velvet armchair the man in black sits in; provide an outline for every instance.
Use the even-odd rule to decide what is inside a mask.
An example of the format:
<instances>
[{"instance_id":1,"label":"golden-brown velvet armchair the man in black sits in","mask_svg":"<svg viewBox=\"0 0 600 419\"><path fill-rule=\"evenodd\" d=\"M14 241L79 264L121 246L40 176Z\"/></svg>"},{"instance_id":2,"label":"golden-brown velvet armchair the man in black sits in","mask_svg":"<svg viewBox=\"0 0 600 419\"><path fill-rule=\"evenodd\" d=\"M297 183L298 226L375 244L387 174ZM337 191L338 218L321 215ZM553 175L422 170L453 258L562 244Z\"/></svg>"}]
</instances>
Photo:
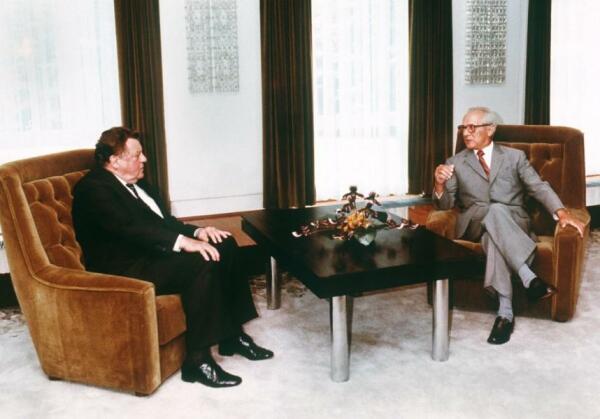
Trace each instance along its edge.
<instances>
[{"instance_id":1,"label":"golden-brown velvet armchair the man in black sits in","mask_svg":"<svg viewBox=\"0 0 600 419\"><path fill-rule=\"evenodd\" d=\"M10 275L49 378L146 395L183 362L185 315L149 282L85 271L71 190L93 164L76 150L0 167Z\"/></svg>"}]
</instances>

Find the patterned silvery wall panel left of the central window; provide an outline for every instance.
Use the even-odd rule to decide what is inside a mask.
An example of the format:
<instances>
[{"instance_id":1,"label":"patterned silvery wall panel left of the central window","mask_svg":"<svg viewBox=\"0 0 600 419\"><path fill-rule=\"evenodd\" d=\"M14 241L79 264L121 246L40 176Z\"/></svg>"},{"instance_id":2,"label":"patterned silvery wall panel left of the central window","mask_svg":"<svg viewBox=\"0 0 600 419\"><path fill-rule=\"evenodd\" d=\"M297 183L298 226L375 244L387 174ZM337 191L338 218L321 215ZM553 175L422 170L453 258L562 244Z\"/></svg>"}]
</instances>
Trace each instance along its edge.
<instances>
[{"instance_id":1,"label":"patterned silvery wall panel left of the central window","mask_svg":"<svg viewBox=\"0 0 600 419\"><path fill-rule=\"evenodd\" d=\"M190 93L238 92L237 0L186 0L185 26Z\"/></svg>"}]
</instances>

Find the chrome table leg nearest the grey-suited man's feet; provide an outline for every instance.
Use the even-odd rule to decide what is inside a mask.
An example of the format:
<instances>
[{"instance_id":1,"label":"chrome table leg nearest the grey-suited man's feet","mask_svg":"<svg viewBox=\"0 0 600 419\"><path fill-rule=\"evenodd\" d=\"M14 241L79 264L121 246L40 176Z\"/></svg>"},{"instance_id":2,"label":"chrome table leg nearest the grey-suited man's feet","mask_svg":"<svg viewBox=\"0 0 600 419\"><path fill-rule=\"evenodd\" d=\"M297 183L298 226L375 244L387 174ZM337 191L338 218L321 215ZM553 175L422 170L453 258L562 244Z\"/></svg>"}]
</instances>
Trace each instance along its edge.
<instances>
[{"instance_id":1,"label":"chrome table leg nearest the grey-suited man's feet","mask_svg":"<svg viewBox=\"0 0 600 419\"><path fill-rule=\"evenodd\" d=\"M449 357L450 328L448 322L448 279L433 282L433 345L431 357L447 361Z\"/></svg>"}]
</instances>

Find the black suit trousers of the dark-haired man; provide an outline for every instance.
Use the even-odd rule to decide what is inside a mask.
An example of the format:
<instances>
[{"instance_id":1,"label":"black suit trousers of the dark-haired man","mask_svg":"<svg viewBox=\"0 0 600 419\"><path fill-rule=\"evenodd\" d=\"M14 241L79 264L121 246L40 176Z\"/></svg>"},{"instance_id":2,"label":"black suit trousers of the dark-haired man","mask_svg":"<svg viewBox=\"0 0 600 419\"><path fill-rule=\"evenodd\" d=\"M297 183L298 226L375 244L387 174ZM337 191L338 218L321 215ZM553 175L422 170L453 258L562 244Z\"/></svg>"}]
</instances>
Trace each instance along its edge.
<instances>
[{"instance_id":1,"label":"black suit trousers of the dark-haired man","mask_svg":"<svg viewBox=\"0 0 600 419\"><path fill-rule=\"evenodd\" d=\"M144 258L124 274L152 282L157 295L180 294L186 316L188 353L238 336L242 324L257 312L247 279L237 259L233 237L214 244L220 261L200 253L173 252Z\"/></svg>"}]
</instances>

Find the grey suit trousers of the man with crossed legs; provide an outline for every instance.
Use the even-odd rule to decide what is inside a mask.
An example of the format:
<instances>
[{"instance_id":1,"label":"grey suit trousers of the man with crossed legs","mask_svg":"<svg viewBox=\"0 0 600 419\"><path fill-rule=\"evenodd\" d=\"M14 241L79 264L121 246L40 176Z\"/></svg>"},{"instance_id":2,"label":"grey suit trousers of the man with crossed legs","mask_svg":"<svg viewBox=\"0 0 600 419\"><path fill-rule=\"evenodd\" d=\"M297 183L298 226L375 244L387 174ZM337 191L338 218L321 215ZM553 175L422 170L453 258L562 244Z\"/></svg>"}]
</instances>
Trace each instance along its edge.
<instances>
[{"instance_id":1,"label":"grey suit trousers of the man with crossed legs","mask_svg":"<svg viewBox=\"0 0 600 419\"><path fill-rule=\"evenodd\" d=\"M531 263L536 248L529 235L529 218L492 203L483 219L471 220L463 237L481 241L486 254L484 287L512 298L511 271Z\"/></svg>"}]
</instances>

